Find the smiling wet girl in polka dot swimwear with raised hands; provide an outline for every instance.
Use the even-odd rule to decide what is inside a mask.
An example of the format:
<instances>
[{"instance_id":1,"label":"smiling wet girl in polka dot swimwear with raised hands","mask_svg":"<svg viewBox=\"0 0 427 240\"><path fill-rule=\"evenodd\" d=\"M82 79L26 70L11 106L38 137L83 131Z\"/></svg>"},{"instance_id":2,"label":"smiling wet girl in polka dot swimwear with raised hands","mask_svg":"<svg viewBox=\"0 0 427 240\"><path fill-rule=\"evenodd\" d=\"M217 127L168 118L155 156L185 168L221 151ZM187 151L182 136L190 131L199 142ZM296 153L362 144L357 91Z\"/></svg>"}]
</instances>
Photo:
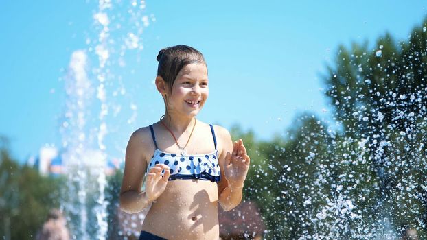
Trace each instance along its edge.
<instances>
[{"instance_id":1,"label":"smiling wet girl in polka dot swimwear with raised hands","mask_svg":"<svg viewBox=\"0 0 427 240\"><path fill-rule=\"evenodd\" d=\"M250 158L242 139L196 119L209 95L202 53L177 45L157 61L165 115L130 136L120 207L137 213L152 204L139 239L218 239L218 202L225 211L240 203Z\"/></svg>"}]
</instances>

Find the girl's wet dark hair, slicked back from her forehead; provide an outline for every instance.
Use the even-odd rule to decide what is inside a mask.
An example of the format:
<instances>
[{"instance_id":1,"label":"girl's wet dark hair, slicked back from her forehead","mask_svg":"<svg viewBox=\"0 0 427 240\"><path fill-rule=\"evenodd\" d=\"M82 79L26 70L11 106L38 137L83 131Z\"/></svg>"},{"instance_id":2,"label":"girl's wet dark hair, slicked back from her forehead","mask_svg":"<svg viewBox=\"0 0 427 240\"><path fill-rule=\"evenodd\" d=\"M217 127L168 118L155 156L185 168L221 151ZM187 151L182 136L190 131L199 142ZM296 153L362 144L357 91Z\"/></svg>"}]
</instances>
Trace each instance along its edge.
<instances>
[{"instance_id":1,"label":"girl's wet dark hair, slicked back from her forehead","mask_svg":"<svg viewBox=\"0 0 427 240\"><path fill-rule=\"evenodd\" d=\"M157 75L161 76L168 84L170 91L179 71L188 64L203 63L206 65L205 58L200 51L187 45L176 45L166 47L159 51L157 55L159 67L157 67Z\"/></svg>"}]
</instances>

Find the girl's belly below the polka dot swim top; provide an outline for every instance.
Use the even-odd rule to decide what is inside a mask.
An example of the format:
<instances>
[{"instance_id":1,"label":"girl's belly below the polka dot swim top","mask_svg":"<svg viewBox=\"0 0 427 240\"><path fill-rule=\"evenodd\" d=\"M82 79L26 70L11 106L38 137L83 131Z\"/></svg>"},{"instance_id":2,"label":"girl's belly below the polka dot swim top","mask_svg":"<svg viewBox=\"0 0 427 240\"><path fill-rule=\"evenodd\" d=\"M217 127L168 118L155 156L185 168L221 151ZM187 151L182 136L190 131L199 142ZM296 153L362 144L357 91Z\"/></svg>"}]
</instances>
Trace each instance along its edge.
<instances>
[{"instance_id":1,"label":"girl's belly below the polka dot swim top","mask_svg":"<svg viewBox=\"0 0 427 240\"><path fill-rule=\"evenodd\" d=\"M166 239L219 237L218 185L206 180L172 180L153 202L142 230Z\"/></svg>"}]
</instances>

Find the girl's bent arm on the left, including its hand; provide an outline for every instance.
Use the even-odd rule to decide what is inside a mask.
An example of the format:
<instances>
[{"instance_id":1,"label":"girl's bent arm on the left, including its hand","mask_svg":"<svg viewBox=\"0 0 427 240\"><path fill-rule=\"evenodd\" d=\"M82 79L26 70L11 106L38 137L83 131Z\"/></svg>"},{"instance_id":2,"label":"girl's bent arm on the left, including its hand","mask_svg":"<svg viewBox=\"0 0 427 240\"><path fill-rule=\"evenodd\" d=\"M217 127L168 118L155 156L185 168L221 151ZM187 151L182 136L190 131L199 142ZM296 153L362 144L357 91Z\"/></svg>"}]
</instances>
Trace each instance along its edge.
<instances>
[{"instance_id":1,"label":"girl's bent arm on the left, including its hand","mask_svg":"<svg viewBox=\"0 0 427 240\"><path fill-rule=\"evenodd\" d=\"M126 147L124 175L120 190L120 208L126 213L138 213L156 200L165 190L170 176L168 166L159 164L152 167L147 174L146 191L141 191L142 180L147 169L143 149L150 149L146 141L147 132L147 129L134 132ZM163 169L165 173L161 176Z\"/></svg>"}]
</instances>

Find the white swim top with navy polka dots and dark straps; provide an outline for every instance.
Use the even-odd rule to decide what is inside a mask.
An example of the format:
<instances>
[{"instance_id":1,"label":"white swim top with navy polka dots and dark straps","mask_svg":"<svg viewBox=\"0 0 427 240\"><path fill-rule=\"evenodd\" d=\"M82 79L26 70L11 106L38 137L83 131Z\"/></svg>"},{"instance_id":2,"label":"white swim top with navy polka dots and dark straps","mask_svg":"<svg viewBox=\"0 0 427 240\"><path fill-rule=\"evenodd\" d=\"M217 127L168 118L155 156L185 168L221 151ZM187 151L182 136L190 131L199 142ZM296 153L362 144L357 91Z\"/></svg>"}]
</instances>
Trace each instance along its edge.
<instances>
[{"instance_id":1,"label":"white swim top with navy polka dots and dark straps","mask_svg":"<svg viewBox=\"0 0 427 240\"><path fill-rule=\"evenodd\" d=\"M154 155L150 160L150 165L147 167L146 173L161 163L170 167L169 180L175 179L200 179L210 180L211 182L219 182L220 166L218 165L218 150L216 149L216 137L214 127L211 126L212 136L214 137L215 152L209 154L170 154L163 152L157 147L156 136L152 125L150 125L151 136L156 146Z\"/></svg>"}]
</instances>

